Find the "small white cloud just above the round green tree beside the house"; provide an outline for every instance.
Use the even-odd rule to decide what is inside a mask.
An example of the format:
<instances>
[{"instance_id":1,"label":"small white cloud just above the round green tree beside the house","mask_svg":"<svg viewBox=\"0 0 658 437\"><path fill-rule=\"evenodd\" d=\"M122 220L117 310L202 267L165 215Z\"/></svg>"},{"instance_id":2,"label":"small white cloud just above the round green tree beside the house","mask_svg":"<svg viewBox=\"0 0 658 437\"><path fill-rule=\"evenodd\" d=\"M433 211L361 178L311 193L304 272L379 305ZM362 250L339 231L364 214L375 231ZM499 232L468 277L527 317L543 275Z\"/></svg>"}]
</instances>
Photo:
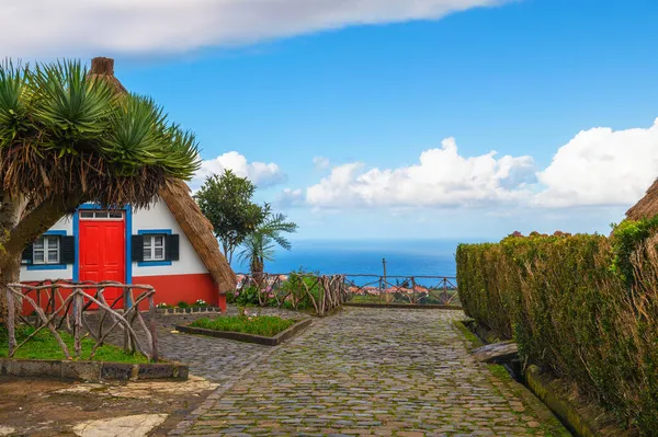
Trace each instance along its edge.
<instances>
[{"instance_id":1,"label":"small white cloud just above the round green tree beside the house","mask_svg":"<svg viewBox=\"0 0 658 437\"><path fill-rule=\"evenodd\" d=\"M207 176L222 174L225 170L232 170L238 176L248 177L261 188L283 183L287 179L279 165L273 162L248 162L242 154L231 151L215 159L203 161L190 185L193 189L197 189Z\"/></svg>"}]
</instances>

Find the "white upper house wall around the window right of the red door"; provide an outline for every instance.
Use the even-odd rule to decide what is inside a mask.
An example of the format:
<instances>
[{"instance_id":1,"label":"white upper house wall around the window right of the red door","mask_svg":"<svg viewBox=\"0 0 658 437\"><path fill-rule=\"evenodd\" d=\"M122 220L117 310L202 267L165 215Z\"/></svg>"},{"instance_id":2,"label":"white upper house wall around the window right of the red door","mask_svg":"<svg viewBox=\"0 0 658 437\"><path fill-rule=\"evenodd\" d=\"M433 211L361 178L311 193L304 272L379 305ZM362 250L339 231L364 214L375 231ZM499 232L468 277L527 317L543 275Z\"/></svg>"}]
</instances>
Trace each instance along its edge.
<instances>
[{"instance_id":1,"label":"white upper house wall around the window right of the red door","mask_svg":"<svg viewBox=\"0 0 658 437\"><path fill-rule=\"evenodd\" d=\"M173 261L169 266L139 266L133 263L133 276L166 276L166 275L190 275L208 273L190 240L179 226L178 221L169 210L167 204L160 199L149 209L140 209L133 212L133 234L139 231L155 229L171 229L171 233L180 237L179 261Z\"/></svg>"}]
</instances>

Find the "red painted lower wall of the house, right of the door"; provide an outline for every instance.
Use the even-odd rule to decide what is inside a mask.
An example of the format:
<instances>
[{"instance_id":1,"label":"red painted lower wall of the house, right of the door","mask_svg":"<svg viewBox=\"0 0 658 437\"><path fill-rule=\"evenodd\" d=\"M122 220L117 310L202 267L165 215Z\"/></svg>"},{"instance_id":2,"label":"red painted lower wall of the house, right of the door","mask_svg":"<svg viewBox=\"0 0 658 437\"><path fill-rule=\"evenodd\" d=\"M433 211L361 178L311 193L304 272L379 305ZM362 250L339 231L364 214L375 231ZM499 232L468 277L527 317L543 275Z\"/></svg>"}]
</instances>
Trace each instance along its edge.
<instances>
[{"instance_id":1,"label":"red painted lower wall of the house, right of the door","mask_svg":"<svg viewBox=\"0 0 658 437\"><path fill-rule=\"evenodd\" d=\"M209 274L168 275L168 276L134 276L133 284L147 284L156 289L156 304L174 306L182 301L194 303L203 299L208 304L219 304L219 291ZM137 297L137 296L135 296ZM226 307L226 297L224 297ZM148 303L143 302L140 310L147 310Z\"/></svg>"}]
</instances>

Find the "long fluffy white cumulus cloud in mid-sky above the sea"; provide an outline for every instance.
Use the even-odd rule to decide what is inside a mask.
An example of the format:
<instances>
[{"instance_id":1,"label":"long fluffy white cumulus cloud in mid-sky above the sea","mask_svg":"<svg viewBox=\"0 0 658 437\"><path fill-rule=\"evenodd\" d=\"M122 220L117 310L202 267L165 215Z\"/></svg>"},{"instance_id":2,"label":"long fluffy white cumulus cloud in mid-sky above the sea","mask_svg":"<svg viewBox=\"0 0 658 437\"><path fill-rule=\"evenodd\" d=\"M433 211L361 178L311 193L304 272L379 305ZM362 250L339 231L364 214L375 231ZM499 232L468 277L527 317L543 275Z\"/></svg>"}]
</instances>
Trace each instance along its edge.
<instances>
[{"instance_id":1,"label":"long fluffy white cumulus cloud in mid-sky above the sea","mask_svg":"<svg viewBox=\"0 0 658 437\"><path fill-rule=\"evenodd\" d=\"M453 138L422 152L419 163L366 170L362 163L336 166L306 191L317 207L485 206L527 198L534 182L531 157L497 158L496 152L465 158Z\"/></svg>"}]
</instances>

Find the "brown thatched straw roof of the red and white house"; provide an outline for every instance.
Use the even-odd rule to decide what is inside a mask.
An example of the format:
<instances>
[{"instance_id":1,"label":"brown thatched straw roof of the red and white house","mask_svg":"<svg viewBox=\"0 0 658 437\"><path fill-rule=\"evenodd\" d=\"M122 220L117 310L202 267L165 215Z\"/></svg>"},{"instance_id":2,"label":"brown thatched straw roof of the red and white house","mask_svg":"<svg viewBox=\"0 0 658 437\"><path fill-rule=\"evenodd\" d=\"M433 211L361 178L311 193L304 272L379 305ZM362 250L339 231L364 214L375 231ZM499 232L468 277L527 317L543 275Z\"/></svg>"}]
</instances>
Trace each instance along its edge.
<instances>
[{"instance_id":1,"label":"brown thatched straw roof of the red and white house","mask_svg":"<svg viewBox=\"0 0 658 437\"><path fill-rule=\"evenodd\" d=\"M103 77L116 87L118 92L126 89L114 77L114 59L94 58L91 61L91 76ZM217 284L219 292L235 290L238 283L226 257L219 251L219 243L213 232L213 225L205 218L183 181L169 181L159 192L160 197L192 243L198 257Z\"/></svg>"}]
</instances>

